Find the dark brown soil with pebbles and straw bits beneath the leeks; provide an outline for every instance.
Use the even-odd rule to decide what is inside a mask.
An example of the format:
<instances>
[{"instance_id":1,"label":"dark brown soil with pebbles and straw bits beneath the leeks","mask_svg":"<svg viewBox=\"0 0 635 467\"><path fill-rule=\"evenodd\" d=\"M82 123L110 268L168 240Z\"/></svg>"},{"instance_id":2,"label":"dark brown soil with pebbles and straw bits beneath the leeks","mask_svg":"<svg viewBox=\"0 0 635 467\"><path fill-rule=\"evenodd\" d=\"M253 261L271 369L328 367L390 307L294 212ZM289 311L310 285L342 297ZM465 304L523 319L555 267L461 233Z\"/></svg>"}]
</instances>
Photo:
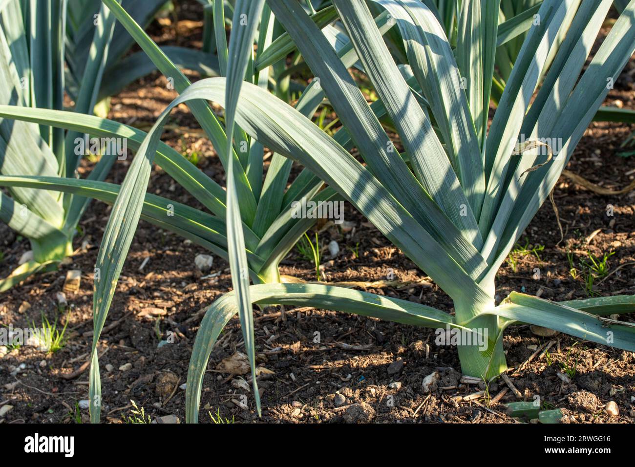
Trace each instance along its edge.
<instances>
[{"instance_id":1,"label":"dark brown soil with pebbles and straw bits beneath the leeks","mask_svg":"<svg viewBox=\"0 0 635 467\"><path fill-rule=\"evenodd\" d=\"M201 24L195 24L197 16L192 10L179 14L184 15L185 22L176 27L154 24L152 36L166 43L182 43L182 36L190 34L187 43L199 41ZM635 108L634 74L635 62L631 60L610 92L608 103ZM175 96L166 88L165 79L154 74L114 97L109 117L149 127ZM187 108L179 107L173 113L168 128L164 140L189 156L196 152L199 168L224 184L222 166ZM627 186L635 177L635 156L618 156L618 146L633 130L632 125L593 123L568 170L604 187ZM109 181L121 183L129 164L130 159L117 164ZM149 191L203 208L158 168L152 173ZM512 290L553 301L635 294L635 191L599 196L563 177L554 199L564 229L563 240L554 211L545 203L519 242L527 244L528 250L537 247L539 251L535 255L518 250L513 255L515 261L504 264L497 276L498 299ZM606 215L608 205L613 206L613 216ZM0 294L3 325L29 327L31 321L39 323L42 313L51 321L60 316L69 323L67 344L56 353L47 355L25 346L0 358L0 407L13 406L0 417L0 423L88 421L88 411L76 407L79 400L88 398L88 371L70 379L65 376L77 372L90 353L92 271L109 209L104 203L93 202L81 222L83 234L74 241L77 252L69 264ZM353 231L342 233L331 227L319 236L323 246L334 239L341 248L335 259L323 260L326 281L383 280L392 268L397 279L418 285L401 290L366 290L453 311L448 296L427 282L425 274L366 219L351 206L347 206L345 215L354 222ZM30 247L27 240L16 238L6 226L0 226L0 238L4 254L0 276L6 276ZM88 247L82 249L85 242ZM608 275L598 278L591 289L585 287L589 254L602 257L612 252ZM185 391L178 386L187 377L200 312L231 290L227 262L215 257L211 272L217 275L203 278L194 266L194 257L201 253L206 251L140 222L106 322L107 327L115 325L102 334L100 341L103 421L121 423L131 415L131 400L153 419L175 414L184 421ZM146 258L149 261L140 271ZM533 278L535 267L541 271L538 280ZM573 274L572 267L576 270ZM69 309L60 313L55 297L62 291L69 269L81 269L81 287L76 294L67 294ZM295 250L283 262L281 272L314 280L313 265ZM259 378L263 407L259 421L516 423L504 414L502 405L518 400L514 393L507 390L498 403L491 403L491 398L507 387L502 380L488 387L461 382L457 351L436 346L433 330L320 309L287 309L286 320L281 320L278 312L278 308L255 309L258 364L272 372ZM635 322L633 318L620 317L631 323ZM175 343L158 348L168 331L176 333ZM316 332L319 343L314 342ZM561 334L552 339L556 343L549 353L534 358L520 370L545 339L533 335L528 326L507 331L504 347L512 368L508 374L521 400L540 396L546 407L562 409L564 423L633 423L635 353ZM234 318L211 355L203 382L201 422L211 422L208 411L218 411L236 422L258 421L253 396L244 389L243 377L229 377L216 370L222 360L241 351L240 325ZM121 370L127 363L130 369ZM568 384L558 376L563 370L572 376ZM440 379L427 393L422 381L434 371L439 372ZM482 390L482 396L462 399ZM243 395L247 410L239 406ZM603 405L609 401L617 403L618 416L609 417L603 412Z\"/></svg>"}]
</instances>

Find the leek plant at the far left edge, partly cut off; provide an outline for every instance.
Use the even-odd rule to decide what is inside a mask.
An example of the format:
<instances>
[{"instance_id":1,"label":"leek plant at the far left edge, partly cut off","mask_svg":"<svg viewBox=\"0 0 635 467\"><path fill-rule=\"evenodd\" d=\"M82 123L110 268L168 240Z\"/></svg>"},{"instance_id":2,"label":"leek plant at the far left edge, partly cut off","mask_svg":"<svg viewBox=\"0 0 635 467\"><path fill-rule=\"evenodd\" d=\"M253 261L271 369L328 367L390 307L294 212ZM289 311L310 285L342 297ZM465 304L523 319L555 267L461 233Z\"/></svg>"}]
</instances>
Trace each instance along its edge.
<instances>
[{"instance_id":1,"label":"leek plant at the far left edge, partly cut off","mask_svg":"<svg viewBox=\"0 0 635 467\"><path fill-rule=\"evenodd\" d=\"M65 91L65 18L67 2L51 0L3 3L0 12L0 73L6 86L0 103L18 111L33 107L62 109ZM86 112L95 104L93 89L101 81L104 55L110 41L114 17L102 11L102 21L93 28L79 86L76 110ZM74 176L79 158L59 128L3 119L0 123L0 173ZM28 156L27 156L28 154ZM72 154L68 159L67 154ZM100 179L110 169L112 158L102 159L90 177ZM29 238L33 257L4 281L0 291L43 269L52 269L72 254L72 236L87 200L62 196L53 191L11 187L10 196L0 193L0 219Z\"/></svg>"}]
</instances>

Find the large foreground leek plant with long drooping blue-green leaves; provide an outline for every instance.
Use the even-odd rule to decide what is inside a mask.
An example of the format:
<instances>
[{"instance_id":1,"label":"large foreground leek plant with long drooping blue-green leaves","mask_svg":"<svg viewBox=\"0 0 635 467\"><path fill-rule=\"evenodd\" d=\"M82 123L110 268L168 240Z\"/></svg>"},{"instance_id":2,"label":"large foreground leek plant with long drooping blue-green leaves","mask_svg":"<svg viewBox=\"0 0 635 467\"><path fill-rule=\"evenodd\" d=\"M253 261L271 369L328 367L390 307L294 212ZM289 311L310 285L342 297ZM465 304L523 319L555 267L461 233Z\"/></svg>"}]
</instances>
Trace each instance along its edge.
<instances>
[{"instance_id":1,"label":"large foreground leek plant with long drooping blue-green leaves","mask_svg":"<svg viewBox=\"0 0 635 467\"><path fill-rule=\"evenodd\" d=\"M514 292L498 306L494 301L498 268L551 193L606 97L607 82L617 78L635 50L635 0L625 6L584 72L585 60L612 1L545 0L537 13L540 24L532 24L528 30L489 128L487 111L500 9L497 0L464 0L457 14L465 26L457 30L455 50L427 2L372 0L367 4L363 0L333 0L333 6L314 12L297 0L269 0L266 5L264 0L237 0L222 76L193 85L116 1L103 1L157 68L174 79L180 93L152 130L144 135L104 119L78 121L64 112L36 109L25 115L8 106L0 107L0 115L8 118L74 130L92 126L99 131L132 134L138 144L138 154L121 187L85 180L0 178L5 186L62 190L114 201L98 255L100 277L95 280L93 301L93 422L100 417L101 395L96 344L140 218L189 235L210 249L212 241L208 238L213 230L214 238L224 242L222 248L216 248L225 252L232 267L234 291L208 308L192 349L186 391L186 417L190 422L197 421L211 350L236 313L252 365L253 394L260 413L252 303L313 306L471 333L485 345L462 342L458 346L462 371L486 380L505 370L502 336L507 326L517 322L635 350L635 329L603 318L632 311L635 297L558 304ZM379 6L382 13L373 17L369 6ZM570 25L565 25L566 17L572 17ZM266 37L264 31L272 27L273 18L285 32L267 46L262 35ZM337 19L340 27L330 25ZM561 33L563 28L566 34ZM401 37L401 48L387 46L391 41L384 41L384 34L388 33ZM558 37L563 39L558 41ZM254 41L258 44L255 54ZM284 93L267 90L265 76L258 71L295 50L317 79L292 107L280 98ZM224 62L223 56L218 51L219 64ZM379 100L368 105L349 74L352 66L368 76ZM333 137L307 118L324 97L344 125ZM205 101L225 107L224 126ZM205 187L194 190L189 177L203 180L199 172L189 172L186 177L173 170L174 175L170 175L181 177L177 181L186 188L191 183L190 193L196 193L204 204L204 199L212 201L206 207L216 217L176 204L173 218L166 217L164 206L168 200L150 194L144 198L152 163L156 160L160 166L169 166L169 151L159 137L171 109L182 102L189 106L224 163L227 193L212 195L215 186L208 181ZM398 130L403 153L389 139L380 119L388 119ZM552 154L552 144L544 141L558 141L558 154ZM264 188L274 181L269 180L269 172L275 169L272 158L262 189L255 192L253 187L262 176L260 146L258 158L251 157L255 144L269 148L274 158L281 156L280 164L288 163L286 158L304 165L305 175L298 177L305 177L302 186L309 190L304 193L311 193L314 199L324 196L318 198L323 200L335 199L339 194L356 206L445 290L454 302L454 314L327 284L265 280L270 271L262 269L267 258L275 258L274 251L284 253L293 247L308 221L293 219L291 210L281 212L277 203L263 205L262 210L271 210L266 215L274 219L267 231L273 233L274 228L279 232L284 227L285 233L276 238L283 246L261 250L269 255L258 255L258 249L253 250L267 238L267 231L259 236L253 226ZM249 151L241 151L241 146ZM352 147L356 147L363 163L347 151ZM250 167L255 163L260 170L252 172ZM250 177L250 173L258 173L258 177ZM277 171L272 173L271 177L276 177ZM320 180L328 184L321 191ZM294 193L287 201L297 200L296 194L303 193L300 186L294 189L296 183L297 179L284 194ZM196 220L189 219L194 215L198 216ZM224 221L226 228L218 225ZM289 239L293 243L284 242ZM255 285L249 286L250 278Z\"/></svg>"}]
</instances>

